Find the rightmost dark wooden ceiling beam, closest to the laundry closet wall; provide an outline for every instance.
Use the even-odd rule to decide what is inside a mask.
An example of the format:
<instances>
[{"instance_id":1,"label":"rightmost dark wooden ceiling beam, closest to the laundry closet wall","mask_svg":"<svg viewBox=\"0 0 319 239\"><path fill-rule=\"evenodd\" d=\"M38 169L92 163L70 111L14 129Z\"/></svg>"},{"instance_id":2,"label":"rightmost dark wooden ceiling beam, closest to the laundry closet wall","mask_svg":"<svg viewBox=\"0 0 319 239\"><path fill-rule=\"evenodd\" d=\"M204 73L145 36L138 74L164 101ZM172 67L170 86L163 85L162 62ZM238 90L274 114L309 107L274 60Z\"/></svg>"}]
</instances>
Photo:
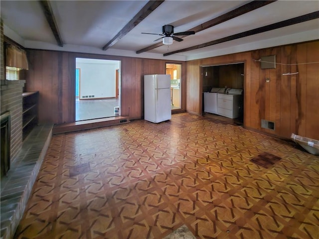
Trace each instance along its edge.
<instances>
[{"instance_id":1,"label":"rightmost dark wooden ceiling beam, closest to the laundry closet wall","mask_svg":"<svg viewBox=\"0 0 319 239\"><path fill-rule=\"evenodd\" d=\"M245 31L245 32L241 32L241 33L238 33L238 34L234 34L234 35L231 35L231 36L226 36L226 37L223 37L223 38L220 38L220 39L217 39L217 40L213 40L213 41L209 41L209 42L206 42L206 43L203 43L203 44L199 44L199 45L196 45L196 46L191 46L191 47L187 47L187 48L180 49L180 50L177 50L177 51L168 52L168 53L163 54L163 56L169 56L169 55L176 54L176 53L179 53L179 52L196 50L196 49L199 49L199 48L212 46L212 45L219 44L219 43L222 43L222 42L231 41L231 40L235 40L235 39L239 39L239 38L242 38L242 37L259 34L259 33L266 32L266 31L275 30L275 29L278 29L278 28L281 28L281 27L290 26L290 25L298 24L298 23L305 22L305 21L310 21L310 20L317 19L317 18L319 18L319 11L315 11L315 12L312 12L312 13L309 13L309 14L298 16L298 17L294 17L294 18L291 18L291 19L288 19L288 20L280 21L280 22L277 22L277 23L274 23L274 24L270 24L270 25L267 25L267 26L262 26L262 27L259 27L259 28L255 28L255 29L252 29L252 30L249 30L249 31Z\"/></svg>"}]
</instances>

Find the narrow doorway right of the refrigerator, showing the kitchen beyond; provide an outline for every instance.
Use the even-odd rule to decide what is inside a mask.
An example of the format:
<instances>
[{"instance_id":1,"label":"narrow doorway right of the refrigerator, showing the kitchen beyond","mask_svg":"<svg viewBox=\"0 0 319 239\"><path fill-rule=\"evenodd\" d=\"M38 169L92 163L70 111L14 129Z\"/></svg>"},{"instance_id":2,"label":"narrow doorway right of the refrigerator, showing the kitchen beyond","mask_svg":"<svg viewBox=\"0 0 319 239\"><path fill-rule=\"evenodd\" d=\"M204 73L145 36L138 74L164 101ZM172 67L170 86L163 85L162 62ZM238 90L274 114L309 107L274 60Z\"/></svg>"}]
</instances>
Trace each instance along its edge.
<instances>
[{"instance_id":1,"label":"narrow doorway right of the refrigerator, showing the kitchen beyond","mask_svg":"<svg viewBox=\"0 0 319 239\"><path fill-rule=\"evenodd\" d=\"M181 64L166 63L166 75L170 75L171 109L181 109Z\"/></svg>"}]
</instances>

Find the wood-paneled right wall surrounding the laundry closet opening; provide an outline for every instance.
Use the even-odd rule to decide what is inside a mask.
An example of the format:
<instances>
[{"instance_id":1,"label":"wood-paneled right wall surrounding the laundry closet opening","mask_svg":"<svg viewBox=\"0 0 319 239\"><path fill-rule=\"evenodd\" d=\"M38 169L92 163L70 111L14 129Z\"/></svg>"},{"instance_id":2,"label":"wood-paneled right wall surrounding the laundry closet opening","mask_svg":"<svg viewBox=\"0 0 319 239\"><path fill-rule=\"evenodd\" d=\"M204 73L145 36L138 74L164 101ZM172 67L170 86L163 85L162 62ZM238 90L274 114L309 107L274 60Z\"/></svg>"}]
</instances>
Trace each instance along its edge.
<instances>
[{"instance_id":1,"label":"wood-paneled right wall surrounding the laundry closet opening","mask_svg":"<svg viewBox=\"0 0 319 239\"><path fill-rule=\"evenodd\" d=\"M260 62L254 61L268 55L276 55L275 69L261 69ZM319 41L187 62L186 110L202 113L200 66L240 61L245 63L245 127L283 138L296 133L319 139L319 63L300 64L319 62ZM282 75L294 72L299 74ZM275 130L261 128L261 119L275 122Z\"/></svg>"}]
</instances>

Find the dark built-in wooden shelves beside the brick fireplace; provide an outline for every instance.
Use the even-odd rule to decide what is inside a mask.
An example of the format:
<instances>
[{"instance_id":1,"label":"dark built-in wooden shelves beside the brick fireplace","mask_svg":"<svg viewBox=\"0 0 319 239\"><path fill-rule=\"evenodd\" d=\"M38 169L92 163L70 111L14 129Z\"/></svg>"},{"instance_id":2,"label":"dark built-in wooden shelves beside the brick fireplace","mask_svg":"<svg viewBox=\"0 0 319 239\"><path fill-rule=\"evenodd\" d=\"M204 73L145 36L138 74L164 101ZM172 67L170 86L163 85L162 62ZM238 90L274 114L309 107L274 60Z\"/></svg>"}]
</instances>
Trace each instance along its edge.
<instances>
[{"instance_id":1,"label":"dark built-in wooden shelves beside the brick fireplace","mask_svg":"<svg viewBox=\"0 0 319 239\"><path fill-rule=\"evenodd\" d=\"M39 92L22 93L22 139L38 124Z\"/></svg>"}]
</instances>

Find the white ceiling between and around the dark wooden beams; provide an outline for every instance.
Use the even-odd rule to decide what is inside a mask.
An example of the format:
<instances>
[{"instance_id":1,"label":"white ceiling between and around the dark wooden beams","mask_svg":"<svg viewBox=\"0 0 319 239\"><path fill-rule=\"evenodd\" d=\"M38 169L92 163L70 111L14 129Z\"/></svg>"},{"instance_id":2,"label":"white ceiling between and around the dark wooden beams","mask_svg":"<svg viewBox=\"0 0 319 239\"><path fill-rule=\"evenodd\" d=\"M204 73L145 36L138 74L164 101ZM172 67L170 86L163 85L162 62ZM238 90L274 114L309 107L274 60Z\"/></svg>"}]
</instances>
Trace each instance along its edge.
<instances>
[{"instance_id":1,"label":"white ceiling between and around the dark wooden beams","mask_svg":"<svg viewBox=\"0 0 319 239\"><path fill-rule=\"evenodd\" d=\"M319 19L243 37L240 39L163 57L163 53L198 45L319 10L318 0L279 0L215 25L195 35L162 45L145 53L136 51L153 45L161 26L174 32L187 31L250 1L165 0L120 41L106 51L108 43L147 3L145 0L50 1L63 47L59 47L35 0L1 0L4 34L26 48L88 52L170 60L191 60L319 39Z\"/></svg>"}]
</instances>

